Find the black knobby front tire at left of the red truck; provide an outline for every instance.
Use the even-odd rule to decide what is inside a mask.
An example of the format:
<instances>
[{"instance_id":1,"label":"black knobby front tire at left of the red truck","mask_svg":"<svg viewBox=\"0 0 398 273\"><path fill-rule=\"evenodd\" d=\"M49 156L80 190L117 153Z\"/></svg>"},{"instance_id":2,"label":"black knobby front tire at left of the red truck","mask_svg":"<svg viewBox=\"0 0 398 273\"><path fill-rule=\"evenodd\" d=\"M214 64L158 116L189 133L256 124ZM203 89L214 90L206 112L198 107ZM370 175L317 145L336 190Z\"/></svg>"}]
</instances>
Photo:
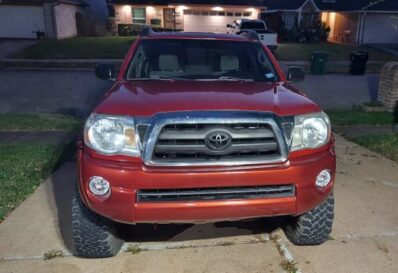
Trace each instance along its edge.
<instances>
[{"instance_id":1,"label":"black knobby front tire at left of the red truck","mask_svg":"<svg viewBox=\"0 0 398 273\"><path fill-rule=\"evenodd\" d=\"M86 208L80 199L79 190L75 188L72 199L72 234L76 256L115 256L123 241L114 235L114 223Z\"/></svg>"}]
</instances>

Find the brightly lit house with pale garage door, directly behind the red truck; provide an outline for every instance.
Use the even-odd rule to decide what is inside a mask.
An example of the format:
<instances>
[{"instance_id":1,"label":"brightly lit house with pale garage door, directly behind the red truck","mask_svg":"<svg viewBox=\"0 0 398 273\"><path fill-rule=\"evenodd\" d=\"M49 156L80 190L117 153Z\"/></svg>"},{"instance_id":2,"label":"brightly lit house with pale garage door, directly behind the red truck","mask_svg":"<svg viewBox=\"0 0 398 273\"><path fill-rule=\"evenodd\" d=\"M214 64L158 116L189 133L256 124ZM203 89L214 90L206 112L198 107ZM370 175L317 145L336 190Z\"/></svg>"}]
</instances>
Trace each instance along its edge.
<instances>
[{"instance_id":1,"label":"brightly lit house with pale garage door, directly behind the red truck","mask_svg":"<svg viewBox=\"0 0 398 273\"><path fill-rule=\"evenodd\" d=\"M240 18L257 19L262 0L111 0L116 24L147 24L193 32L227 32Z\"/></svg>"}]
</instances>

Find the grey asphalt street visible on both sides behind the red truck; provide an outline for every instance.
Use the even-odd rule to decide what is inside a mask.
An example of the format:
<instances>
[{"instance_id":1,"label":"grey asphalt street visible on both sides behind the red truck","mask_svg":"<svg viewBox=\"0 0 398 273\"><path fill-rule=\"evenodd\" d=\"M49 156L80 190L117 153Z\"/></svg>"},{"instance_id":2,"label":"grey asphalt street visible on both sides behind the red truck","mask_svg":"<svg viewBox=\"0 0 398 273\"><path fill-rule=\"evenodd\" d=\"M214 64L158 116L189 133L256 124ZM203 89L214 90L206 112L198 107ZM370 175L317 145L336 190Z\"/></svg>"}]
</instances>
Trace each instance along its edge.
<instances>
[{"instance_id":1,"label":"grey asphalt street visible on both sides behind the red truck","mask_svg":"<svg viewBox=\"0 0 398 273\"><path fill-rule=\"evenodd\" d=\"M112 85L93 71L0 70L0 112L53 112L85 116ZM306 75L296 84L324 109L350 108L377 97L378 76Z\"/></svg>"}]
</instances>

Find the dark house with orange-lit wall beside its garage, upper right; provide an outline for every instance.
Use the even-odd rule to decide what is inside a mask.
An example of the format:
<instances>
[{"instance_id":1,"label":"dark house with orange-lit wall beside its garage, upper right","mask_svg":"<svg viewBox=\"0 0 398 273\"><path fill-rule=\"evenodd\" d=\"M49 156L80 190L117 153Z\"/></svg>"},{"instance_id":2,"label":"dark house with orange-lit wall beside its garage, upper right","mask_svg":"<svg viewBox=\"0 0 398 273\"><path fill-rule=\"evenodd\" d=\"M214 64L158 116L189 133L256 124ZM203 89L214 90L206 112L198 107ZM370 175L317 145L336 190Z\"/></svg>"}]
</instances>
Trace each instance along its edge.
<instances>
[{"instance_id":1,"label":"dark house with orange-lit wall beside its garage, upper right","mask_svg":"<svg viewBox=\"0 0 398 273\"><path fill-rule=\"evenodd\" d=\"M268 26L306 28L328 25L329 41L356 44L398 43L398 0L264 0Z\"/></svg>"}]
</instances>

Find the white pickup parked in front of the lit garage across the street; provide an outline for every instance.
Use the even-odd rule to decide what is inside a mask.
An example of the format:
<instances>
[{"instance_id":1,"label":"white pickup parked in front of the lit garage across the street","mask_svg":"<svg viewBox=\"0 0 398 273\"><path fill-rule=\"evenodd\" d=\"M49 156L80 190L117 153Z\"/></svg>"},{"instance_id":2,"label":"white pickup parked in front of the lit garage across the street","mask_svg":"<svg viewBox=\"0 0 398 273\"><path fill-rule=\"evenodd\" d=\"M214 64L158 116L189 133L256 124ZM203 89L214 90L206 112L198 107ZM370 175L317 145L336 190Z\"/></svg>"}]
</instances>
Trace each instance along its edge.
<instances>
[{"instance_id":1,"label":"white pickup parked in front of the lit garage across the street","mask_svg":"<svg viewBox=\"0 0 398 273\"><path fill-rule=\"evenodd\" d=\"M245 31L254 31L258 34L260 41L268 46L271 51L278 48L278 34L268 30L267 25L263 20L249 20L242 19L236 21L232 25L227 25L228 32L233 34L241 34Z\"/></svg>"}]
</instances>

